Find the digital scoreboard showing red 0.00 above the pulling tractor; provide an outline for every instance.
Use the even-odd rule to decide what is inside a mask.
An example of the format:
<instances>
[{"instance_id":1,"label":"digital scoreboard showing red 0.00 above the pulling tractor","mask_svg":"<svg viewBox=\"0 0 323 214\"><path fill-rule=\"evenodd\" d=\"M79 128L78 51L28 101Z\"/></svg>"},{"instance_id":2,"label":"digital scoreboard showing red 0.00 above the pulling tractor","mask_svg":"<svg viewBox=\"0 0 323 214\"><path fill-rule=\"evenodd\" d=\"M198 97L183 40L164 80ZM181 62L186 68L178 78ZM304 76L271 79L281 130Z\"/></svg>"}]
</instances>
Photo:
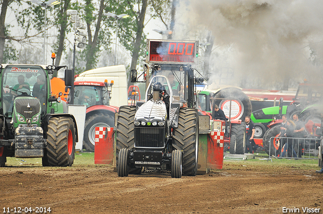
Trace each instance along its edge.
<instances>
[{"instance_id":1,"label":"digital scoreboard showing red 0.00 above the pulling tractor","mask_svg":"<svg viewBox=\"0 0 323 214\"><path fill-rule=\"evenodd\" d=\"M146 62L195 63L198 56L198 41L147 39Z\"/></svg>"}]
</instances>

